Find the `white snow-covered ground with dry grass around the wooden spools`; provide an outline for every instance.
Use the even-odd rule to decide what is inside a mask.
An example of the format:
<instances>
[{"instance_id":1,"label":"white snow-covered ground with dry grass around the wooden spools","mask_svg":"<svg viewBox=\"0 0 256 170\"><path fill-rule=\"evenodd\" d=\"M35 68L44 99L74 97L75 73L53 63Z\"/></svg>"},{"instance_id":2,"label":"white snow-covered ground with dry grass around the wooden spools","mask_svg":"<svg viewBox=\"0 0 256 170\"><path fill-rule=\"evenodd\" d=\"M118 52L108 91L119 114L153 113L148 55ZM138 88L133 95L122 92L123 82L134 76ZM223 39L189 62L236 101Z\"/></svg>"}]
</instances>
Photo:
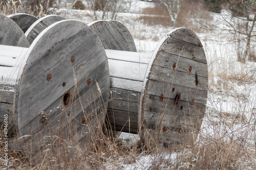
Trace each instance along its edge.
<instances>
[{"instance_id":1,"label":"white snow-covered ground with dry grass around the wooden spools","mask_svg":"<svg viewBox=\"0 0 256 170\"><path fill-rule=\"evenodd\" d=\"M139 13L146 7L154 7L154 4L133 1L130 13L119 13L117 20L121 21L131 32L138 52L152 53L158 41L169 31L172 31L172 27L145 25L142 20L139 20ZM92 12L89 10L68 10L67 14L66 8L60 8L57 14L86 23L93 21L93 18L90 17ZM209 14L209 16L211 19L207 21L208 24L218 24L219 28L226 27L225 23L218 18L218 14ZM198 25L198 23L194 24ZM195 32L204 46L209 72L207 110L197 142L200 143L205 138L215 136L216 138L226 138L227 141L241 142L241 145L246 147L251 159L248 160L247 155L241 157L240 168L255 169L256 75L250 75L250 71L256 68L256 63L237 61L236 45L228 43L230 36L232 36L230 33ZM254 83L248 84L239 80L239 78L248 77L248 75L252 76ZM245 137L246 140L241 141L242 137ZM139 137L134 134L122 133L119 139L126 142L127 145L132 145ZM193 163L198 158L190 155L192 153L187 149L180 152L142 153L132 155L131 158L120 156L115 161L110 159L105 161L104 166L106 169L168 169L170 166L167 165L176 165L179 161L180 169L193 169ZM185 161L187 157L193 159ZM230 167L230 169L234 169L234 167Z\"/></svg>"}]
</instances>

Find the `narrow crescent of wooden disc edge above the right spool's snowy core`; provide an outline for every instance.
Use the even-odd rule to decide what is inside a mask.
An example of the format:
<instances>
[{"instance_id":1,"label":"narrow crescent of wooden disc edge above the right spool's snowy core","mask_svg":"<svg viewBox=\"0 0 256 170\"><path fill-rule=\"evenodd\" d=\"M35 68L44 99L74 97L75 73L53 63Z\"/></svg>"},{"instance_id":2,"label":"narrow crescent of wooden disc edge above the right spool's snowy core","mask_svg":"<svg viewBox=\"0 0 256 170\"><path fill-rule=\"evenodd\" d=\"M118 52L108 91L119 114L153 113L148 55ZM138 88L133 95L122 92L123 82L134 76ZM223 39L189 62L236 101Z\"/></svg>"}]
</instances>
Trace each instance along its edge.
<instances>
[{"instance_id":1,"label":"narrow crescent of wooden disc edge above the right spool's snowy core","mask_svg":"<svg viewBox=\"0 0 256 170\"><path fill-rule=\"evenodd\" d=\"M133 40L133 36L130 33L130 31L121 22L119 22L117 20L109 20L109 21L115 23L115 25L122 31L125 39L129 43L131 52L137 52L136 46L135 46L135 43L134 43L134 40Z\"/></svg>"}]
</instances>

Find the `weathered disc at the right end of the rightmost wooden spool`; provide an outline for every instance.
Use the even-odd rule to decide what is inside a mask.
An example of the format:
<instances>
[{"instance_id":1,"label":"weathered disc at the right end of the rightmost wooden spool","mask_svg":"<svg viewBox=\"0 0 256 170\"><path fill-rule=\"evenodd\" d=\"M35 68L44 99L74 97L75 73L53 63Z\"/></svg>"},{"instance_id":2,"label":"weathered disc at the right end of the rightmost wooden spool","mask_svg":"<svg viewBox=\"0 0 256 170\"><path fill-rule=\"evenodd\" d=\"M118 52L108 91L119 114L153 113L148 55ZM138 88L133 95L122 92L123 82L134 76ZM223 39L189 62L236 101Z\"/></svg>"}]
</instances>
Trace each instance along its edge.
<instances>
[{"instance_id":1,"label":"weathered disc at the right end of the rightmost wooden spool","mask_svg":"<svg viewBox=\"0 0 256 170\"><path fill-rule=\"evenodd\" d=\"M186 28L168 33L156 48L143 82L141 138L190 144L201 128L208 91L202 43ZM141 125L142 123L142 125Z\"/></svg>"}]
</instances>

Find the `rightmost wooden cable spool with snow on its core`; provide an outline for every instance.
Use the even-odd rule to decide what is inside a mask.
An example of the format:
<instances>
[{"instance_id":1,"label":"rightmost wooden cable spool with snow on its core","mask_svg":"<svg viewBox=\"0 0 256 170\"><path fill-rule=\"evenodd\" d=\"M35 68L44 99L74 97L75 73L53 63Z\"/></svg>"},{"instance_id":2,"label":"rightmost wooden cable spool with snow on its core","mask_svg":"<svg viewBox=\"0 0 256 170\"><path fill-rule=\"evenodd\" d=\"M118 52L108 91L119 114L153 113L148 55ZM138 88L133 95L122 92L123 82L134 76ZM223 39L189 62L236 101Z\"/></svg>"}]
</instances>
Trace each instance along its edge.
<instances>
[{"instance_id":1,"label":"rightmost wooden cable spool with snow on its core","mask_svg":"<svg viewBox=\"0 0 256 170\"><path fill-rule=\"evenodd\" d=\"M157 139L153 144L164 147L193 142L208 91L207 61L197 35L186 28L175 29L151 55L114 51L117 45L111 45L125 40L122 35L113 39L120 29L114 31L108 21L90 26L104 41L109 60L111 100L106 122L110 129L140 134L144 143Z\"/></svg>"}]
</instances>

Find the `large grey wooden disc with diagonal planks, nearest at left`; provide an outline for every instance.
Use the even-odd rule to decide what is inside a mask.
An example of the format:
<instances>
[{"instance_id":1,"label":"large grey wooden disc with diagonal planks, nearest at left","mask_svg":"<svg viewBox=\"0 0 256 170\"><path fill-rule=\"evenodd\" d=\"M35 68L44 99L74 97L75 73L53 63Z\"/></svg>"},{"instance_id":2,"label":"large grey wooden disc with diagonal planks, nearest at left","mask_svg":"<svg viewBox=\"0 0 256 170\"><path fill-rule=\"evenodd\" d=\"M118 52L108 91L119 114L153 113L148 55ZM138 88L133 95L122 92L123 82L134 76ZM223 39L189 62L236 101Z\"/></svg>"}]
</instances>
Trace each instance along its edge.
<instances>
[{"instance_id":1,"label":"large grey wooden disc with diagonal planks, nearest at left","mask_svg":"<svg viewBox=\"0 0 256 170\"><path fill-rule=\"evenodd\" d=\"M96 133L110 88L108 60L97 34L83 22L55 22L36 37L25 59L15 125L19 136L32 137L22 150L37 152L49 136L60 133L74 142Z\"/></svg>"}]
</instances>

